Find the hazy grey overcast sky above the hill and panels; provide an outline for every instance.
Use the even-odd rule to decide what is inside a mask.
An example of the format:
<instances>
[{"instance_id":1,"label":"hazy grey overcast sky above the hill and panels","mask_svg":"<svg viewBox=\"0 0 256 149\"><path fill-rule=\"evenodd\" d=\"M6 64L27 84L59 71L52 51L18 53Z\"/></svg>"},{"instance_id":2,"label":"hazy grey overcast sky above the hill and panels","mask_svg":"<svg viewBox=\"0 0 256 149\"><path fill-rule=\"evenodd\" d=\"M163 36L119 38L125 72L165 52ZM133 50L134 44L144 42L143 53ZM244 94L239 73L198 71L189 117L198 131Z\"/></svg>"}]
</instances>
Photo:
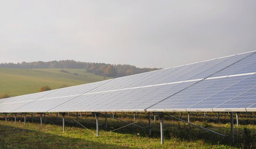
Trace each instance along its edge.
<instances>
[{"instance_id":1,"label":"hazy grey overcast sky above the hill and panels","mask_svg":"<svg viewBox=\"0 0 256 149\"><path fill-rule=\"evenodd\" d=\"M169 68L256 50L256 1L0 0L0 63Z\"/></svg>"}]
</instances>

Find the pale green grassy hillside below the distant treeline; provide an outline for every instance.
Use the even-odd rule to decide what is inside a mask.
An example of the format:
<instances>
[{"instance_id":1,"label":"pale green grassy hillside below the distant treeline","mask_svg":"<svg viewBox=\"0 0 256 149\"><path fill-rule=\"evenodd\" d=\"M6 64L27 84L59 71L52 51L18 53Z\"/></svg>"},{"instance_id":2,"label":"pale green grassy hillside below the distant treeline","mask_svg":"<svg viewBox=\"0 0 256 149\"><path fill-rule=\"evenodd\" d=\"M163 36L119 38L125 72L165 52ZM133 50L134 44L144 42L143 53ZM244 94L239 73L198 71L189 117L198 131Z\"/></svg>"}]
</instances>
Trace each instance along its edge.
<instances>
[{"instance_id":1,"label":"pale green grassy hillside below the distant treeline","mask_svg":"<svg viewBox=\"0 0 256 149\"><path fill-rule=\"evenodd\" d=\"M45 85L51 89L110 79L83 69L2 69L0 95L18 96L38 92Z\"/></svg>"}]
</instances>

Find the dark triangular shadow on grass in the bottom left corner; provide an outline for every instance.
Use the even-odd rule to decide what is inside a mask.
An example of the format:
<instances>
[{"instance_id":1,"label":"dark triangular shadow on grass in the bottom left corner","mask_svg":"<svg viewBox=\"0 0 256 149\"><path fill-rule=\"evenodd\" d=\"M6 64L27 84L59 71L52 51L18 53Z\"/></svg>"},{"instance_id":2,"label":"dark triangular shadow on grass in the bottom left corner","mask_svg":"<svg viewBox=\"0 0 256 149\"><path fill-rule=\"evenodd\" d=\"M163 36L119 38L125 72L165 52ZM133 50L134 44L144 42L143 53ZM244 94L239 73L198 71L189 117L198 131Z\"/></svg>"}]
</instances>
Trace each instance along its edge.
<instances>
[{"instance_id":1,"label":"dark triangular shadow on grass in the bottom left corner","mask_svg":"<svg viewBox=\"0 0 256 149\"><path fill-rule=\"evenodd\" d=\"M128 148L0 125L0 148ZM131 148L131 147L129 147Z\"/></svg>"}]
</instances>

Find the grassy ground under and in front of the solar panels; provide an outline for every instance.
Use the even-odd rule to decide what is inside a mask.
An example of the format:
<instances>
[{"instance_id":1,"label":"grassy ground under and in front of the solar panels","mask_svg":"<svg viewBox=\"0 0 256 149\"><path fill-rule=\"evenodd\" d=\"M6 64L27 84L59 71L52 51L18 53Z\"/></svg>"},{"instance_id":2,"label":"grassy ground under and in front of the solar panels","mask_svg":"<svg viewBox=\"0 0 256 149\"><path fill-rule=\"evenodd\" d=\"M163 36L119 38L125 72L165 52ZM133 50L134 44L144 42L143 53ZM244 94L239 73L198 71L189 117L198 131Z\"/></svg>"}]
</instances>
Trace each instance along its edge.
<instances>
[{"instance_id":1,"label":"grassy ground under and in front of the solar panels","mask_svg":"<svg viewBox=\"0 0 256 149\"><path fill-rule=\"evenodd\" d=\"M139 117L139 116L138 116ZM67 117L67 121L72 121L72 117ZM95 118L93 115L83 115L86 120L81 120L84 126L95 133ZM38 118L37 118L38 119ZM184 123L172 120L165 120L165 144L160 144L159 121L152 123L152 135L148 137L147 130L129 126L119 129L113 133L109 130L125 126L126 124L113 119L108 119L109 128L105 130L105 119L100 118L100 135L94 136L88 130L76 127L70 122L66 122L66 131L62 132L61 120L46 117L47 120L57 123L57 125L45 124L43 128L39 123L28 122L24 125L21 121L15 125L9 118L5 123L3 117L0 120L0 148L254 148L253 136L246 136L243 129L255 133L255 126L241 125L236 128L236 145L230 146L229 136L220 137L201 129L188 126ZM131 118L120 118L133 122ZM138 125L147 127L147 119L138 118ZM38 121L37 121L38 122ZM194 121L198 125L203 125L203 121ZM212 130L228 135L229 124L210 123ZM252 139L246 142L246 139ZM254 140L254 142L253 142ZM246 142L246 143L245 143Z\"/></svg>"}]
</instances>

